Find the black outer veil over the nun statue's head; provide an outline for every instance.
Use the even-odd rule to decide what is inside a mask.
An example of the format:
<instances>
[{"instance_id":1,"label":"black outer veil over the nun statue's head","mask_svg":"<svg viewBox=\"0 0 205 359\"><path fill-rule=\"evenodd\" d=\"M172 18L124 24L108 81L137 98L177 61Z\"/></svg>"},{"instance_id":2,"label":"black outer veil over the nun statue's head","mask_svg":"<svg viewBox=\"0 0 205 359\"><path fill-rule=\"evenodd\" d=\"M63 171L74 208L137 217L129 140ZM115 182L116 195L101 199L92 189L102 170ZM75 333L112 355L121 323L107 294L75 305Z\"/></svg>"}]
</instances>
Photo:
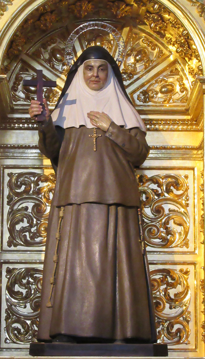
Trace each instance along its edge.
<instances>
[{"instance_id":1,"label":"black outer veil over the nun statue's head","mask_svg":"<svg viewBox=\"0 0 205 359\"><path fill-rule=\"evenodd\" d=\"M119 67L117 65L117 62L113 59L113 57L110 55L110 53L102 46L91 46L88 47L86 50L84 50L82 52L82 54L78 57L78 59L75 61L75 63L73 64L73 66L70 68L70 71L67 75L67 79L65 81L65 85L64 88L62 90L62 93L60 94L60 97L58 99L58 102L55 106L55 108L58 106L60 100L63 98L64 94L66 93L66 91L68 90L71 82L73 81L73 78L75 76L75 74L78 71L78 67L80 65L83 64L83 62L85 62L86 60L92 60L92 59L99 59L99 60L105 60L107 61L113 70L114 75L116 76L116 79L125 95L125 97L128 99L128 101L132 104L126 90L125 87L123 85L123 80L122 80L122 75L121 72L119 70ZM133 104L132 104L133 106Z\"/></svg>"}]
</instances>

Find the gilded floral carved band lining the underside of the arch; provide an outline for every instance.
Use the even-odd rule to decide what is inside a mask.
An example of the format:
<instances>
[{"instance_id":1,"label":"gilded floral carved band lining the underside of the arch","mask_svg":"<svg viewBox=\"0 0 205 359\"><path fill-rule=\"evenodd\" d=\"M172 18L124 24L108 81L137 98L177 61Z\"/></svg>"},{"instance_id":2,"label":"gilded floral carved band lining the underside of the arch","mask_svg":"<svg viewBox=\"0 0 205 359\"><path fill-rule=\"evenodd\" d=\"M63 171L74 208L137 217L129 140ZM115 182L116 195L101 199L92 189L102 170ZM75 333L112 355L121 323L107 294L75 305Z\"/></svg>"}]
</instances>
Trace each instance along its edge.
<instances>
[{"instance_id":1,"label":"gilded floral carved band lining the underside of the arch","mask_svg":"<svg viewBox=\"0 0 205 359\"><path fill-rule=\"evenodd\" d=\"M24 52L33 41L34 33L36 35L38 32L46 34L52 30L54 25L66 23L68 18L73 19L73 16L77 19L86 18L88 20L93 17L113 19L113 15L116 19L131 18L133 26L138 24L147 26L149 31L162 39L166 45L171 44L174 51L189 63L193 75L196 71L201 71L198 69L200 66L199 55L187 30L170 11L156 1L136 0L129 5L125 1L105 1L102 4L101 1L82 0L77 1L75 5L69 5L68 0L50 0L29 14L18 31L15 32L5 53L4 64L2 64L3 73L8 73L9 64L14 56Z\"/></svg>"}]
</instances>

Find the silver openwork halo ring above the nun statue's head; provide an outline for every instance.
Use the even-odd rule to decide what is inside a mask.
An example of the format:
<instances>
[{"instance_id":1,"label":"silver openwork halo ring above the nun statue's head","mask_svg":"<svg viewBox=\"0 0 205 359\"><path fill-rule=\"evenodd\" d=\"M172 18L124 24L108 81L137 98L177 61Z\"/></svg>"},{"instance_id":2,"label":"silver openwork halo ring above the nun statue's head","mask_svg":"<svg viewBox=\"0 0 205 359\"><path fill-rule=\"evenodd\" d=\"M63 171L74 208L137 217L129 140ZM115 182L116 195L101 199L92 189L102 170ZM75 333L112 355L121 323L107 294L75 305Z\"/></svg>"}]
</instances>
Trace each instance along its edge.
<instances>
[{"instance_id":1,"label":"silver openwork halo ring above the nun statue's head","mask_svg":"<svg viewBox=\"0 0 205 359\"><path fill-rule=\"evenodd\" d=\"M115 59L116 62L119 62L119 66L122 64L125 57L125 41L123 40L122 35L114 28L112 25L109 25L106 22L102 21L91 21L85 24L78 26L69 36L66 45L65 45L65 58L69 65L73 65L73 46L75 40L83 33L89 29L101 29L107 31L111 34L117 42L118 53Z\"/></svg>"}]
</instances>

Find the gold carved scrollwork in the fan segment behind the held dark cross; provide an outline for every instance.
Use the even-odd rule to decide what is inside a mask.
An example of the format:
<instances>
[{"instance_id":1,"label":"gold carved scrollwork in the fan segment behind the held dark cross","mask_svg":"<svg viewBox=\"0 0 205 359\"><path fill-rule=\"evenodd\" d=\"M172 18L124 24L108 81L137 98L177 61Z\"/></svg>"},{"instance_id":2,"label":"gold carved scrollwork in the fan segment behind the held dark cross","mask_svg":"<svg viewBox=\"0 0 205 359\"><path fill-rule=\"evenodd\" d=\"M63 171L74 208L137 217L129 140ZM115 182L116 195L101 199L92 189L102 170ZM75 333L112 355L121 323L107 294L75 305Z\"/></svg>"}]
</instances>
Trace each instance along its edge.
<instances>
[{"instance_id":1,"label":"gold carved scrollwork in the fan segment behind the held dark cross","mask_svg":"<svg viewBox=\"0 0 205 359\"><path fill-rule=\"evenodd\" d=\"M20 71L15 76L13 85L11 86L11 94L14 102L30 102L31 100L36 99L36 87L23 86L24 79L36 80L36 74L30 73L29 69L26 67L21 67ZM49 103L55 103L59 98L59 92L56 89L44 88L43 97L46 98Z\"/></svg>"}]
</instances>

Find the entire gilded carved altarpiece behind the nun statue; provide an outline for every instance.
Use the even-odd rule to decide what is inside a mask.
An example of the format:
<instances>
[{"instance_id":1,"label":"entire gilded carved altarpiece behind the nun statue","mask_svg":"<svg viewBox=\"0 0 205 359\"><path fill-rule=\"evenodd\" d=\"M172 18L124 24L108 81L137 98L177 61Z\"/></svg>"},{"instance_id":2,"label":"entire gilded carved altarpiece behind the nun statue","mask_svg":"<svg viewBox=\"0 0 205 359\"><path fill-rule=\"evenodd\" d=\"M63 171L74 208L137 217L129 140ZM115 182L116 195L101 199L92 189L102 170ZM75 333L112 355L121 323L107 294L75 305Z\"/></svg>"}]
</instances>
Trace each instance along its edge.
<instances>
[{"instance_id":1,"label":"entire gilded carved altarpiece behind the nun statue","mask_svg":"<svg viewBox=\"0 0 205 359\"><path fill-rule=\"evenodd\" d=\"M55 89L44 89L52 110L69 71L69 34L98 20L125 40L121 73L147 127L150 155L136 177L158 342L168 344L170 356L204 356L205 43L195 26L197 19L202 34L204 13L196 0L0 1L0 355L28 355L36 340L55 186L28 115L36 88L23 87L23 79L42 69L44 79L57 80ZM106 25L77 38L75 58L92 45L117 51Z\"/></svg>"}]
</instances>

